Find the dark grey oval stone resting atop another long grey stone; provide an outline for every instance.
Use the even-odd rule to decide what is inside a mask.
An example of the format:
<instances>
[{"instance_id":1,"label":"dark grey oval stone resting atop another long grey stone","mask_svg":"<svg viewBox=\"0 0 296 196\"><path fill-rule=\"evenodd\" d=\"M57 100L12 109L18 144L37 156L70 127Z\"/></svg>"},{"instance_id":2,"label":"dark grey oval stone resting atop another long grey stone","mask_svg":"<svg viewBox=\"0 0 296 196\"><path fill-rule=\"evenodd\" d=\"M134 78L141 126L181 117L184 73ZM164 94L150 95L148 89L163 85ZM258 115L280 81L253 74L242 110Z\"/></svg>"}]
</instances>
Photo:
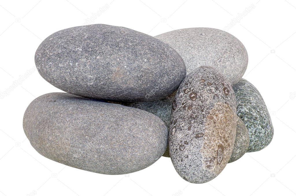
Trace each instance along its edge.
<instances>
[{"instance_id":1,"label":"dark grey oval stone resting atop another long grey stone","mask_svg":"<svg viewBox=\"0 0 296 196\"><path fill-rule=\"evenodd\" d=\"M46 81L65 92L112 101L162 99L186 75L184 61L168 44L102 24L55 32L38 47L35 63Z\"/></svg>"}]
</instances>

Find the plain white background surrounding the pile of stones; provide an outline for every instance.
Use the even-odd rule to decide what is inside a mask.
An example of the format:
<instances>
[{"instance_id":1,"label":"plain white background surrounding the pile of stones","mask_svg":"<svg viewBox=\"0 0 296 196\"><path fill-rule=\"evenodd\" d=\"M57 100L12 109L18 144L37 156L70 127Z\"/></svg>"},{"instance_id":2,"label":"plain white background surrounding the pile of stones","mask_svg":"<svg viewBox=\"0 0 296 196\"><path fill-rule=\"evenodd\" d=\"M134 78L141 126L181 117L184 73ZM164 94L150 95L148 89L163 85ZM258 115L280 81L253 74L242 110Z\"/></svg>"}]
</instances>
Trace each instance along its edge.
<instances>
[{"instance_id":1,"label":"plain white background surrounding the pile of stones","mask_svg":"<svg viewBox=\"0 0 296 196\"><path fill-rule=\"evenodd\" d=\"M254 8L243 14L252 4ZM229 25L234 18L240 22ZM0 99L0 196L296 195L295 1L1 0L0 19L0 93L9 92ZM141 171L114 176L71 168L38 154L23 132L23 113L36 97L61 91L36 71L35 51L53 32L83 25L87 19L152 36L229 25L227 31L249 54L244 78L258 88L272 114L271 144L228 164L205 184L183 180L166 157Z\"/></svg>"}]
</instances>

